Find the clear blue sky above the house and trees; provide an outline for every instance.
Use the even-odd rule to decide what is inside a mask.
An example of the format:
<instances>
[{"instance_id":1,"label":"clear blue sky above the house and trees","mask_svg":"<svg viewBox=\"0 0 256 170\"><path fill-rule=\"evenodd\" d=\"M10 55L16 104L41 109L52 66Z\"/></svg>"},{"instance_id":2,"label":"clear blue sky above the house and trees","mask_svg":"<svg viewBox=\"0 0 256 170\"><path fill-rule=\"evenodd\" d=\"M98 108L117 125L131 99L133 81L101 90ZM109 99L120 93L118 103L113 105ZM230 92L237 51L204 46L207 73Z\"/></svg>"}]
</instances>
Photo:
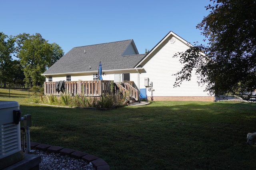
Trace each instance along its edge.
<instances>
[{"instance_id":1,"label":"clear blue sky above the house and trees","mask_svg":"<svg viewBox=\"0 0 256 170\"><path fill-rule=\"evenodd\" d=\"M1 0L0 32L40 33L67 53L73 47L133 39L140 54L173 31L204 43L196 25L210 0Z\"/></svg>"}]
</instances>

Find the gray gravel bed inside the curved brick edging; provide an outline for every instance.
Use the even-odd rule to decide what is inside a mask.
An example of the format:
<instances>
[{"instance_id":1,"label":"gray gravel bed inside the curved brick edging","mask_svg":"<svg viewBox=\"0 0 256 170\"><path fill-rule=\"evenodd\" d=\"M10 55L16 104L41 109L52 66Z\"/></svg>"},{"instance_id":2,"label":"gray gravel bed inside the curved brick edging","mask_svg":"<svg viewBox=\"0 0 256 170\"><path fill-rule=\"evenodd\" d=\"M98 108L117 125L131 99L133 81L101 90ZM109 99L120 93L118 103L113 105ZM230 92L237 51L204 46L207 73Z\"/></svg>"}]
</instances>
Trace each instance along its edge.
<instances>
[{"instance_id":1,"label":"gray gravel bed inside the curved brick edging","mask_svg":"<svg viewBox=\"0 0 256 170\"><path fill-rule=\"evenodd\" d=\"M89 164L82 159L72 158L68 155L43 152L36 150L41 156L40 170L95 170L92 163Z\"/></svg>"}]
</instances>

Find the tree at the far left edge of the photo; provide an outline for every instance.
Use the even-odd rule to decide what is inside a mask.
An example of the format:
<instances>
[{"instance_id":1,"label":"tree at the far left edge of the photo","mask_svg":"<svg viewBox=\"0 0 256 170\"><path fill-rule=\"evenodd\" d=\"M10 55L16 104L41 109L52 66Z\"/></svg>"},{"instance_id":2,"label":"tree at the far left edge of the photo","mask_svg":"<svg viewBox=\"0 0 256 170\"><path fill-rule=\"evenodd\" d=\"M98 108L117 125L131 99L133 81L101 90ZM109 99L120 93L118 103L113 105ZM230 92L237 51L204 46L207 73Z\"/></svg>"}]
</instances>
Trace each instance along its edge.
<instances>
[{"instance_id":1,"label":"tree at the far left edge of the photo","mask_svg":"<svg viewBox=\"0 0 256 170\"><path fill-rule=\"evenodd\" d=\"M0 80L1 87L2 81L4 82L4 87L6 87L6 82L10 79L10 67L12 56L14 52L14 39L13 37L8 37L4 33L0 32Z\"/></svg>"}]
</instances>

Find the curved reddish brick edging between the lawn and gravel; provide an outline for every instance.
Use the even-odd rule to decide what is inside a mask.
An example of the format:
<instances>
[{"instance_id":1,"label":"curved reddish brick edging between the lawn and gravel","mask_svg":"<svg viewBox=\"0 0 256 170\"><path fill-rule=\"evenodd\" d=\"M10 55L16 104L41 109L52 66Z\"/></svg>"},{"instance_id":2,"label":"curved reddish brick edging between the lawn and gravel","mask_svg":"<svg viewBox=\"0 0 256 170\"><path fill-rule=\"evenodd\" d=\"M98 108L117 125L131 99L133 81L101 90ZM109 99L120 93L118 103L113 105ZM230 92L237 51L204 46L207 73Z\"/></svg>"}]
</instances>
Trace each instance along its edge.
<instances>
[{"instance_id":1,"label":"curved reddish brick edging between the lawn and gravel","mask_svg":"<svg viewBox=\"0 0 256 170\"><path fill-rule=\"evenodd\" d=\"M37 142L30 142L30 148L47 151L49 153L60 153L64 155L69 155L72 158L82 159L88 163L92 162L92 165L96 170L110 170L110 166L103 159L85 152L80 152L74 149L68 149L63 147L51 146L47 144L41 144Z\"/></svg>"}]
</instances>

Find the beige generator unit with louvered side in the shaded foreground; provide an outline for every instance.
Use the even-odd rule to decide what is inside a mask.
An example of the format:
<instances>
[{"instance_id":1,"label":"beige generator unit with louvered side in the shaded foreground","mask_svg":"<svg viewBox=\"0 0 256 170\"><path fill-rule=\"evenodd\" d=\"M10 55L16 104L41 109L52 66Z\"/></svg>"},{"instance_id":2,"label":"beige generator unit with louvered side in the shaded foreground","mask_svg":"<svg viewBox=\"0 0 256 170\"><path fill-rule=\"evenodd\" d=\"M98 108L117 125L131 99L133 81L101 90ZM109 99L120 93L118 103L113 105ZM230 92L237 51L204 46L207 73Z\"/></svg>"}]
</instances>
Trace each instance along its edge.
<instances>
[{"instance_id":1,"label":"beige generator unit with louvered side in the shaded foreground","mask_svg":"<svg viewBox=\"0 0 256 170\"><path fill-rule=\"evenodd\" d=\"M0 101L0 169L24 158L20 140L20 105Z\"/></svg>"}]
</instances>

